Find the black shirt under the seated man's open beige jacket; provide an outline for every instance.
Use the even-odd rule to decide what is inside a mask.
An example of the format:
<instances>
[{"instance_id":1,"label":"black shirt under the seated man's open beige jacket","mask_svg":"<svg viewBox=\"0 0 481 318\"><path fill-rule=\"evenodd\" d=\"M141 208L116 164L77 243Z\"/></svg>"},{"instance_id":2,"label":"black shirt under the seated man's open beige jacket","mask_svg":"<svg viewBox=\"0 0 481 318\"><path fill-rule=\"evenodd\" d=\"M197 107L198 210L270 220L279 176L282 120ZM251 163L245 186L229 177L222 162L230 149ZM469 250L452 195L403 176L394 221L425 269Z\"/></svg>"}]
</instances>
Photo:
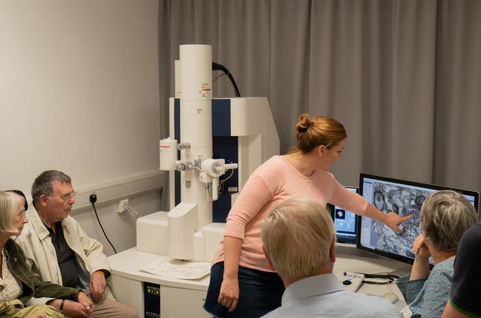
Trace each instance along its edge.
<instances>
[{"instance_id":1,"label":"black shirt under the seated man's open beige jacket","mask_svg":"<svg viewBox=\"0 0 481 318\"><path fill-rule=\"evenodd\" d=\"M62 274L63 286L78 286L76 256L74 251L72 251L69 245L67 245L67 241L65 241L61 221L55 223L55 233L49 227L47 227L47 229L50 233L49 236L57 254L57 262L58 267L60 268L60 273Z\"/></svg>"}]
</instances>

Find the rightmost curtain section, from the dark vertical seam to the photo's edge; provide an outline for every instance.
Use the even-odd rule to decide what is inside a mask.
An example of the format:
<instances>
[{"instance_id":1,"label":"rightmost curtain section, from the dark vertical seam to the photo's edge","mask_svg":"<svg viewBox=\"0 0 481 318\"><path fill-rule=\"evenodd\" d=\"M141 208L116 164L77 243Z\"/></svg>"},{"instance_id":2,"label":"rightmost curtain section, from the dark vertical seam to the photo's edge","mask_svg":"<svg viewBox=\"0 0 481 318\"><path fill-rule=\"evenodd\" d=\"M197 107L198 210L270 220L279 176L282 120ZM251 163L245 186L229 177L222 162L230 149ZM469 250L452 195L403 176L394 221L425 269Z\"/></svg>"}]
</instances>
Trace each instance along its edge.
<instances>
[{"instance_id":1,"label":"rightmost curtain section, from the dark vertical seam to the photo's edge","mask_svg":"<svg viewBox=\"0 0 481 318\"><path fill-rule=\"evenodd\" d=\"M434 183L481 191L481 2L438 1Z\"/></svg>"}]
</instances>

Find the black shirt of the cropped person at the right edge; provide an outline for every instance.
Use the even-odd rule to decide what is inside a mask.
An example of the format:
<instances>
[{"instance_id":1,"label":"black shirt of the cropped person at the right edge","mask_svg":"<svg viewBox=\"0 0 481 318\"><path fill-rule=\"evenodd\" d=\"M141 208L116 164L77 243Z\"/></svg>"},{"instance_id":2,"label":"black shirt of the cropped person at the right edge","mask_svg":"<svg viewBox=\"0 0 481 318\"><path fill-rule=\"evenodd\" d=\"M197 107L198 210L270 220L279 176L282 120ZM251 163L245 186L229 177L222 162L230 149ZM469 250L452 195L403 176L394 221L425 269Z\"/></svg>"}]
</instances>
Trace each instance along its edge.
<instances>
[{"instance_id":1,"label":"black shirt of the cropped person at the right edge","mask_svg":"<svg viewBox=\"0 0 481 318\"><path fill-rule=\"evenodd\" d=\"M470 227L462 235L451 284L451 305L470 317L481 317L481 223Z\"/></svg>"}]
</instances>

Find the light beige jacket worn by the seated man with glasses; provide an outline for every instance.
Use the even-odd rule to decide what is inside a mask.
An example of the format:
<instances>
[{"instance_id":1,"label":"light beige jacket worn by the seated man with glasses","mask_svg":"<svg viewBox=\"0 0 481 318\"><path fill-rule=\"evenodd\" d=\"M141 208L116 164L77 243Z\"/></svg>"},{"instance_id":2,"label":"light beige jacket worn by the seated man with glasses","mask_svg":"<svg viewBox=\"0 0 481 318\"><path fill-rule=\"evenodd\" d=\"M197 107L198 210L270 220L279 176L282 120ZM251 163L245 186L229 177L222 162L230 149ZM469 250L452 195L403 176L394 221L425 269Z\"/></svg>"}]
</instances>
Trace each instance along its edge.
<instances>
[{"instance_id":1,"label":"light beige jacket worn by the seated man with glasses","mask_svg":"<svg viewBox=\"0 0 481 318\"><path fill-rule=\"evenodd\" d=\"M62 274L57 262L55 247L49 236L49 231L42 223L35 208L28 209L29 223L23 228L21 236L16 242L21 245L27 263L32 267L34 274L41 277L41 280L62 284ZM110 264L103 252L102 243L87 234L80 228L77 221L71 216L62 220L63 234L67 245L76 254L76 260L83 271L78 273L79 280L83 287L89 288L90 275L100 269L110 272ZM107 286L104 297L113 299L113 295Z\"/></svg>"}]
</instances>

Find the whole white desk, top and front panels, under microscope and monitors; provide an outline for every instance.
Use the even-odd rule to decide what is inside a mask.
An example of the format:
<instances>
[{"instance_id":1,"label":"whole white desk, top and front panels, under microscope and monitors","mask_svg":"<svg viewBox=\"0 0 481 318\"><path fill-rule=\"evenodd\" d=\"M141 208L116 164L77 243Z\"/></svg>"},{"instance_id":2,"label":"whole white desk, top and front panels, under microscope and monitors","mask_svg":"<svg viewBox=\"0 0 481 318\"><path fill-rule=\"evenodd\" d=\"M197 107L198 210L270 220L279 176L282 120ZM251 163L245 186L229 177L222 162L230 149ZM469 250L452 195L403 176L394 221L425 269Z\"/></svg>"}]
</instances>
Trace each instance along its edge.
<instances>
[{"instance_id":1,"label":"whole white desk, top and front panels, under microscope and monitors","mask_svg":"<svg viewBox=\"0 0 481 318\"><path fill-rule=\"evenodd\" d=\"M148 262L153 262L159 255L139 252L135 247L109 257L111 264L111 285L113 294L119 302L137 310L139 317L144 317L143 282L160 285L161 318L171 317L212 317L202 309L209 276L201 280L177 280L139 271ZM381 256L359 251L354 246L337 246L335 271L357 273L394 272L403 275L410 271L407 264L389 260ZM401 292L395 284L370 285L363 284L357 293L383 295L395 293L399 300L394 305L399 311L405 306Z\"/></svg>"}]
</instances>

